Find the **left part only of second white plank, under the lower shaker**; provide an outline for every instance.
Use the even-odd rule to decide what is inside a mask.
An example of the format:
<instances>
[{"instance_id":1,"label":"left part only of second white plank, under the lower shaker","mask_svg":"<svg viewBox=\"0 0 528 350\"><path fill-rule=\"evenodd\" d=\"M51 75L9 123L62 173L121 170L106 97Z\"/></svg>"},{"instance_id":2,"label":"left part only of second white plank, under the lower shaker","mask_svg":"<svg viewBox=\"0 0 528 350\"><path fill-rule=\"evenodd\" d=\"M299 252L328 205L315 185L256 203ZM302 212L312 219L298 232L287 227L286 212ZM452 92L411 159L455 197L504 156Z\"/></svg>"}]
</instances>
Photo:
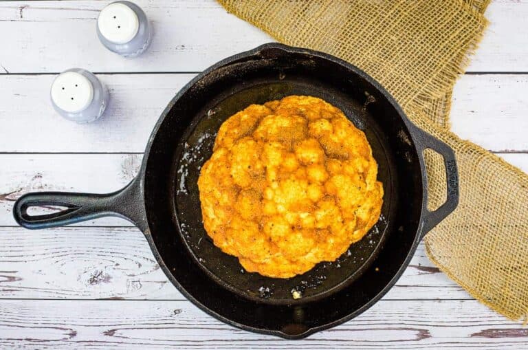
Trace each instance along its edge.
<instances>
[{"instance_id":1,"label":"left part only of second white plank, under the lower shaker","mask_svg":"<svg viewBox=\"0 0 528 350\"><path fill-rule=\"evenodd\" d=\"M58 116L47 98L54 76L0 76L0 151L143 152L157 118L194 74L100 75L109 87L97 122Z\"/></svg>"}]
</instances>

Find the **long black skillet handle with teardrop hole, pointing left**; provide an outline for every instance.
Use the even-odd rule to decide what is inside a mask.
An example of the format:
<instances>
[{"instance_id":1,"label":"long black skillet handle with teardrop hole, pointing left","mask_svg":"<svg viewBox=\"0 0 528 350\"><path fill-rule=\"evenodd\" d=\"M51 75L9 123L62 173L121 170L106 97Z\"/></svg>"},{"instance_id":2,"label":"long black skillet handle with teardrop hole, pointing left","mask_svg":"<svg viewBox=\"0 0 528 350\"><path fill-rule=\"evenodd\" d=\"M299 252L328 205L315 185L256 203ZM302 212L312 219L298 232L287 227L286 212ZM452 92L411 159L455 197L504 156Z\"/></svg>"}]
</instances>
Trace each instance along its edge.
<instances>
[{"instance_id":1,"label":"long black skillet handle with teardrop hole, pointing left","mask_svg":"<svg viewBox=\"0 0 528 350\"><path fill-rule=\"evenodd\" d=\"M89 193L35 192L20 197L13 208L14 219L24 228L39 230L71 225L80 221L98 217L116 216L132 221L137 226L144 223L138 196L139 181L134 179L130 184L114 193L95 195ZM65 209L45 215L29 215L32 206L62 206Z\"/></svg>"}]
</instances>

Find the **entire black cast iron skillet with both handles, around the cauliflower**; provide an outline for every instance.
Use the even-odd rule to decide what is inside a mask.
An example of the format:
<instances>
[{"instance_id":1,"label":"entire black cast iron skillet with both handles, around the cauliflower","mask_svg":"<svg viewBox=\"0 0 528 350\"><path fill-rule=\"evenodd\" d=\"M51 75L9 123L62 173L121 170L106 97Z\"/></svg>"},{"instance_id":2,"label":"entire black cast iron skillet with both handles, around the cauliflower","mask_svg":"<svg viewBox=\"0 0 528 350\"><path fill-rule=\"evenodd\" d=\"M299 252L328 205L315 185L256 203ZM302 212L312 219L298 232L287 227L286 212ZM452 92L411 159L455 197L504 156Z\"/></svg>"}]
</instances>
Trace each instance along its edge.
<instances>
[{"instance_id":1,"label":"entire black cast iron skillet with both handles, around the cauliflower","mask_svg":"<svg viewBox=\"0 0 528 350\"><path fill-rule=\"evenodd\" d=\"M196 182L226 118L288 95L323 98L365 131L384 205L376 226L338 261L294 278L266 278L245 272L214 247L201 223ZM434 212L426 208L424 149L443 156L448 179L447 201ZM29 193L14 204L14 217L31 229L106 215L128 219L144 232L168 279L203 311L249 331L303 338L379 300L458 199L453 151L415 127L373 78L336 57L272 43L213 65L181 89L155 125L140 173L128 186L107 195ZM28 215L30 206L43 205L66 209ZM292 298L294 291L302 298Z\"/></svg>"}]
</instances>

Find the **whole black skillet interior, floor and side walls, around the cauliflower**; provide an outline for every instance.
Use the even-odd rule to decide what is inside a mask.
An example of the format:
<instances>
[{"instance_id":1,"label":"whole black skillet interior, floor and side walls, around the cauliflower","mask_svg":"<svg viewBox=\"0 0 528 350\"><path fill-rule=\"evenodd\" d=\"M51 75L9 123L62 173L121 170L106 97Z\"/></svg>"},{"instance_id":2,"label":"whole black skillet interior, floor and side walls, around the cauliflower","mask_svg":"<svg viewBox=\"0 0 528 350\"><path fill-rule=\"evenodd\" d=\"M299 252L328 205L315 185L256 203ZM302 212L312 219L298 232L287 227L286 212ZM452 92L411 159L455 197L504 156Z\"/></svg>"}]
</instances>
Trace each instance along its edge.
<instances>
[{"instance_id":1,"label":"whole black skillet interior, floor and side walls, around the cauliflower","mask_svg":"<svg viewBox=\"0 0 528 350\"><path fill-rule=\"evenodd\" d=\"M214 247L201 223L196 182L225 119L293 94L327 100L366 133L384 206L376 226L338 261L294 278L266 278L244 272ZM166 113L146 164L146 214L161 258L190 297L241 325L288 333L346 317L391 283L415 243L421 172L401 114L362 74L327 57L267 50L209 72ZM294 300L293 289L303 298ZM257 315L247 315L248 307Z\"/></svg>"}]
</instances>

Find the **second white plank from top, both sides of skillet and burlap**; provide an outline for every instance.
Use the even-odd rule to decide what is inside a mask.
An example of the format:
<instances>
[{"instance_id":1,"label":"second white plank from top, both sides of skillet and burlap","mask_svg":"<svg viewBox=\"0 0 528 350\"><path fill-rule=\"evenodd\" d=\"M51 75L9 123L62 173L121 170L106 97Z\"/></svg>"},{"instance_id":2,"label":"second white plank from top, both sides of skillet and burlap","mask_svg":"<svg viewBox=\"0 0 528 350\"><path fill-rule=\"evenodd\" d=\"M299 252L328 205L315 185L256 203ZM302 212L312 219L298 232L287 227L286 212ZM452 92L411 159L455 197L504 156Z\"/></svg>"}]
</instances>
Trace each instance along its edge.
<instances>
[{"instance_id":1,"label":"second white plank from top, both sides of skillet and burlap","mask_svg":"<svg viewBox=\"0 0 528 350\"><path fill-rule=\"evenodd\" d=\"M1 152L142 152L174 94L194 74L101 74L111 102L101 120L76 124L45 97L53 76L0 76ZM465 75L452 129L492 151L528 151L528 74Z\"/></svg>"}]
</instances>

